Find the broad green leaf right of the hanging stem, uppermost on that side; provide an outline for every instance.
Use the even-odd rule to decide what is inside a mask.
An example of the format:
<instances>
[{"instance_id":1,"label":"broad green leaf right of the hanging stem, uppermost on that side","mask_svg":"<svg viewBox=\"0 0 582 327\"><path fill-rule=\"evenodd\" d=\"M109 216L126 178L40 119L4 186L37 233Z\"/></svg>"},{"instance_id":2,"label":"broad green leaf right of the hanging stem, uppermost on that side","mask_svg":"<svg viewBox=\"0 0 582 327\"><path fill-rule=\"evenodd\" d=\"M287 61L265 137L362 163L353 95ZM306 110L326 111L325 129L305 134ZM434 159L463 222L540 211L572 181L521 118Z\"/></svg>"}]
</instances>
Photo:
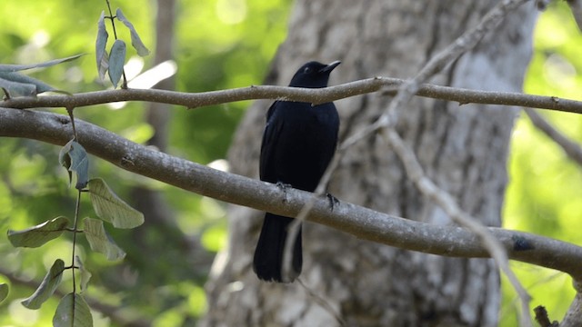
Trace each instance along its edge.
<instances>
[{"instance_id":1,"label":"broad green leaf right of the hanging stem, uppermost on that side","mask_svg":"<svg viewBox=\"0 0 582 327\"><path fill-rule=\"evenodd\" d=\"M88 187L95 213L105 222L116 228L135 228L144 223L144 214L121 200L101 178L91 179Z\"/></svg>"}]
</instances>

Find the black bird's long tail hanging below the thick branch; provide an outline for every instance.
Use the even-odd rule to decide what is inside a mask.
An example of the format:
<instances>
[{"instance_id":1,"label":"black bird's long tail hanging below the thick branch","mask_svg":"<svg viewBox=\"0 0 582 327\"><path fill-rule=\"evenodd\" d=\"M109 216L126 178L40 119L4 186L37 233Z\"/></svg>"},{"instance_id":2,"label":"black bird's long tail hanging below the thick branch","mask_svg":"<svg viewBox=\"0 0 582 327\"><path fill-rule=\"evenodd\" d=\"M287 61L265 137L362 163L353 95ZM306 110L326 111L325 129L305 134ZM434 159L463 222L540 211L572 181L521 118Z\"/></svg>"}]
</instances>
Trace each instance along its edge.
<instances>
[{"instance_id":1,"label":"black bird's long tail hanging below the thick branch","mask_svg":"<svg viewBox=\"0 0 582 327\"><path fill-rule=\"evenodd\" d=\"M259 279L267 282L293 282L301 272L301 226L293 244L290 272L283 272L285 243L292 222L292 218L266 213L253 260L253 270Z\"/></svg>"}]
</instances>

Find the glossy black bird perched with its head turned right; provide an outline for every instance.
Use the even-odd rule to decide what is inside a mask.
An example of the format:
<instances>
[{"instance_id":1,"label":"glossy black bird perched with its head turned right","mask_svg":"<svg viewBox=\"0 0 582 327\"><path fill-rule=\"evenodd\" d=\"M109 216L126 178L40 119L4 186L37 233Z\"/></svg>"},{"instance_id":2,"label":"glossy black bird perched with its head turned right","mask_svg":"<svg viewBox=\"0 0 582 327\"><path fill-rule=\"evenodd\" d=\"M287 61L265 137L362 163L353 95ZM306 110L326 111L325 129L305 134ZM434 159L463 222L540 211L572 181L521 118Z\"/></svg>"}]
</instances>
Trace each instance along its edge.
<instances>
[{"instance_id":1,"label":"glossy black bird perched with its head turned right","mask_svg":"<svg viewBox=\"0 0 582 327\"><path fill-rule=\"evenodd\" d=\"M304 64L289 86L326 87L329 74L338 64L339 61ZM336 152L338 129L339 117L333 103L276 101L266 114L259 168L261 181L314 192ZM301 227L293 245L291 272L283 272L287 229L292 222L292 218L266 213L253 261L259 279L293 282L301 272Z\"/></svg>"}]
</instances>

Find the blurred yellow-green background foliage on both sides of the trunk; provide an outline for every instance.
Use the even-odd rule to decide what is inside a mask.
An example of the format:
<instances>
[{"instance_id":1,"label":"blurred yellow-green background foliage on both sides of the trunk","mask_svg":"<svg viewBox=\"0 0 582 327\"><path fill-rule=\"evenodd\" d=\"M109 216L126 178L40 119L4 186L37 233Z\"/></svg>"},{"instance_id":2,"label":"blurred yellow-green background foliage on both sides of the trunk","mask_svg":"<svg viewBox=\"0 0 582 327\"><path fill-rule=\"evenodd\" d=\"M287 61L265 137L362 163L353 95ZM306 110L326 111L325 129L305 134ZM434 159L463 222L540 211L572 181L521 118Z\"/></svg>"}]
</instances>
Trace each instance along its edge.
<instances>
[{"instance_id":1,"label":"blurred yellow-green background foliage on both sides of the trunk","mask_svg":"<svg viewBox=\"0 0 582 327\"><path fill-rule=\"evenodd\" d=\"M160 45L170 41L165 45L166 50L171 49L166 56L173 62L163 67L168 74L176 73L160 88L203 92L262 84L277 45L286 37L292 1L177 1L176 8L169 11L175 14L170 15L171 24L157 29L170 27L164 31L172 33L173 26L173 37L156 37L156 18L172 4L168 0L112 2L113 10L120 7L124 11L153 52L141 58L128 47L126 73L130 79L137 75L136 84L151 82L146 74L139 74L166 60L159 56L164 49L156 51L157 38ZM28 74L70 93L110 88L110 83L98 80L95 64L96 22L102 10L106 10L105 1L0 2L0 12L5 13L0 26L0 63L33 64L86 54L74 62ZM105 25L110 46L113 33L110 22ZM129 44L126 29L119 22L115 26L118 37ZM582 36L566 3L553 2L539 17L525 92L582 100L581 45ZM186 110L127 103L79 108L75 117L168 154L224 168L231 137L248 105L238 102ZM65 114L64 109L49 111ZM162 113L161 118L153 113ZM542 114L567 136L582 142L582 116ZM58 164L59 150L31 140L0 139L0 235L58 215L73 217L75 190L68 188L65 170ZM517 122L508 170L504 227L582 245L582 169L525 114ZM89 301L95 326L196 324L206 310L206 276L227 240L225 203L127 173L93 156L90 175L104 178L115 193L146 215L146 224L135 230L107 230L127 253L124 261L106 261L80 238L77 253L93 273L85 295L95 301ZM95 216L87 199L81 209L81 217ZM13 248L5 236L0 238L0 282L11 287L9 297L0 302L0 326L51 324L57 297L36 311L25 309L20 301L34 292L55 259L69 264L71 246L68 235L25 250ZM574 296L570 278L525 263L512 266L533 296L532 305L543 303L552 319L561 320ZM70 292L70 279L70 272L65 272L62 292ZM517 295L505 280L502 287L500 325L515 326Z\"/></svg>"}]
</instances>

